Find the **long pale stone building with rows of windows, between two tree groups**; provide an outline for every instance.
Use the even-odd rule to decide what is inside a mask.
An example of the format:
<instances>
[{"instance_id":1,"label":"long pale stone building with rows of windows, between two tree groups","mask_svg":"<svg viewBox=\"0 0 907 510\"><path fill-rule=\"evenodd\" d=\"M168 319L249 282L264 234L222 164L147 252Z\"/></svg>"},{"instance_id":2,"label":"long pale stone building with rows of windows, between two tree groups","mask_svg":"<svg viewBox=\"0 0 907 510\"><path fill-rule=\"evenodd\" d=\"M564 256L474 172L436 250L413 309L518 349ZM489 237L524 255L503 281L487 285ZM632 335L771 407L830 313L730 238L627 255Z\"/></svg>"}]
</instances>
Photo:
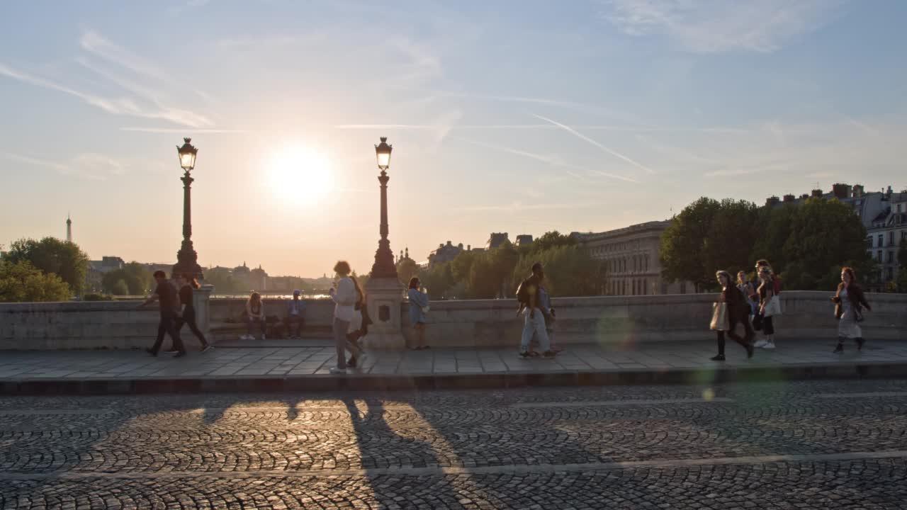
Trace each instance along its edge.
<instances>
[{"instance_id":1,"label":"long pale stone building with rows of windows, between two tree groups","mask_svg":"<svg viewBox=\"0 0 907 510\"><path fill-rule=\"evenodd\" d=\"M649 221L623 229L598 233L572 232L593 259L605 260L607 275L601 292L608 296L647 296L686 294L693 291L688 282L668 283L661 277L661 233L670 221Z\"/></svg>"}]
</instances>

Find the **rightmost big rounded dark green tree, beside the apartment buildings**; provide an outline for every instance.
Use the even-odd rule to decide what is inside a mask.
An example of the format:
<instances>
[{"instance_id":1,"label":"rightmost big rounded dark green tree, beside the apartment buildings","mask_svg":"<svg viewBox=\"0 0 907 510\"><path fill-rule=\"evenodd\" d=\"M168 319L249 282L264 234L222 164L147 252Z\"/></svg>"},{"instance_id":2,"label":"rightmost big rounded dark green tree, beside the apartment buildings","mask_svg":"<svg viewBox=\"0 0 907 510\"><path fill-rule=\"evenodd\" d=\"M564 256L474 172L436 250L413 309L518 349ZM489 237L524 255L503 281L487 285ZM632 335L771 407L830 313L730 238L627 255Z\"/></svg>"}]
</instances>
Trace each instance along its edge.
<instances>
[{"instance_id":1,"label":"rightmost big rounded dark green tree, beside the apartment buildings","mask_svg":"<svg viewBox=\"0 0 907 510\"><path fill-rule=\"evenodd\" d=\"M866 229L860 217L837 200L813 198L796 208L785 241L787 264L782 277L792 289L834 289L841 267L857 275L873 274L865 248Z\"/></svg>"}]
</instances>

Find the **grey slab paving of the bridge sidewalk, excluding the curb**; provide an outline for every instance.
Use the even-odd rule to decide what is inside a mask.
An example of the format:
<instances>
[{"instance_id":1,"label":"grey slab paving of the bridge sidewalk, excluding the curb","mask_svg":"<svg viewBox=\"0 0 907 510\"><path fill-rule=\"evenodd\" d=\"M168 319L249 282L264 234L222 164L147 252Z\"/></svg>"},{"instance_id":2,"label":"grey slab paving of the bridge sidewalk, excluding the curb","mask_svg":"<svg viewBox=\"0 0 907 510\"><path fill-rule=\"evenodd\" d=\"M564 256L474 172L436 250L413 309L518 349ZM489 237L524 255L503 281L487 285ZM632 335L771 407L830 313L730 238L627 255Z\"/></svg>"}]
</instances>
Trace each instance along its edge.
<instances>
[{"instance_id":1,"label":"grey slab paving of the bridge sidewalk, excluding the curb","mask_svg":"<svg viewBox=\"0 0 907 510\"><path fill-rule=\"evenodd\" d=\"M832 354L834 340L779 342L774 351L757 349L746 359L743 348L728 344L727 361L709 360L715 343L665 342L639 346L572 345L555 359L521 359L516 348L432 348L424 351L371 352L356 374L371 376L469 376L563 373L663 373L677 370L741 368L847 368L904 365L907 342L870 341L863 352L853 345ZM23 380L135 380L160 378L297 378L325 376L335 366L334 348L215 348L174 359L128 351L5 351L0 382ZM354 377L355 375L354 374ZM340 376L344 377L344 376Z\"/></svg>"}]
</instances>

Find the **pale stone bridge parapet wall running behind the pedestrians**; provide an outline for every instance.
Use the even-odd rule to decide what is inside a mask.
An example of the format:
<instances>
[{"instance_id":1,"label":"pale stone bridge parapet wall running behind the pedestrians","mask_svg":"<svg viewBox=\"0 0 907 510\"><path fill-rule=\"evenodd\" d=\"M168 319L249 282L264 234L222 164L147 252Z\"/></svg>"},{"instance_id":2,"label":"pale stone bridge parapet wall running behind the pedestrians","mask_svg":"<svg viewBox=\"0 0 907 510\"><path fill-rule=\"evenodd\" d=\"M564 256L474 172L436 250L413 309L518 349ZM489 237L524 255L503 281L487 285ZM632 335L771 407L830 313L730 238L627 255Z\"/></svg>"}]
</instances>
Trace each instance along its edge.
<instances>
[{"instance_id":1,"label":"pale stone bridge parapet wall running behind the pedestrians","mask_svg":"<svg viewBox=\"0 0 907 510\"><path fill-rule=\"evenodd\" d=\"M238 320L244 299L208 299L210 289L196 294L200 326ZM796 338L836 337L832 292L785 290L784 315L775 320L780 342ZM863 322L869 339L907 339L907 295L868 294L873 312ZM708 331L715 294L556 298L557 341L625 345L635 342L711 338ZM327 330L333 303L309 301L310 326ZM0 348L144 348L157 333L157 311L137 310L136 302L65 302L0 304ZM404 303L402 321L409 323ZM286 301L265 300L268 315L282 317ZM427 338L444 347L516 346L522 331L512 299L434 301L428 314ZM184 329L187 343L189 332ZM404 328L406 338L412 329Z\"/></svg>"}]
</instances>

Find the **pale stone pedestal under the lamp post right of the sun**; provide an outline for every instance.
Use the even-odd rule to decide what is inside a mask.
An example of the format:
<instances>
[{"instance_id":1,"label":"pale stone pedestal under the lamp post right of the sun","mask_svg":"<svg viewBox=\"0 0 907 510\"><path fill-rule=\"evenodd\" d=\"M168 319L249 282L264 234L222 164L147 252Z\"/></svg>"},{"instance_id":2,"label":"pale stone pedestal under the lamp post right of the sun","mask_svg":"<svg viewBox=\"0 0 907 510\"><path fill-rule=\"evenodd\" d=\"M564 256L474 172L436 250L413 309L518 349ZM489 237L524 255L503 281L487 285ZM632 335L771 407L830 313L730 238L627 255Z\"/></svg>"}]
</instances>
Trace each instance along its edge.
<instances>
[{"instance_id":1,"label":"pale stone pedestal under the lamp post right of the sun","mask_svg":"<svg viewBox=\"0 0 907 510\"><path fill-rule=\"evenodd\" d=\"M403 285L395 278L372 278L366 282L366 306L372 325L362 339L366 349L401 350L406 340L400 330Z\"/></svg>"}]
</instances>

